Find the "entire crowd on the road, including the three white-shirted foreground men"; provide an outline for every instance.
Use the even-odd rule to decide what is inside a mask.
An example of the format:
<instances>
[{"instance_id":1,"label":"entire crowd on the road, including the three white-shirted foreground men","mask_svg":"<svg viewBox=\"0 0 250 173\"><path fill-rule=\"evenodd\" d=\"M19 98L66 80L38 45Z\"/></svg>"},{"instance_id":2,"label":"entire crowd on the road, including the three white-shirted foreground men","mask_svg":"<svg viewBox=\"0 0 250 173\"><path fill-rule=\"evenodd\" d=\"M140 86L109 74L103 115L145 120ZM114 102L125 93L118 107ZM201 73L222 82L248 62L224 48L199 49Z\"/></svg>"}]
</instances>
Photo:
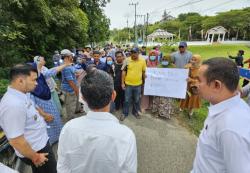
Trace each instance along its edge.
<instances>
[{"instance_id":1,"label":"entire crowd on the road, including the three white-shirted foreground men","mask_svg":"<svg viewBox=\"0 0 250 173\"><path fill-rule=\"evenodd\" d=\"M177 108L187 109L191 118L203 98L211 106L192 173L250 172L250 84L238 87L238 66L250 61L243 62L242 50L230 56L234 63L229 58L202 62L200 55L187 50L186 42L178 49L169 54L159 46L86 46L75 53L63 49L55 52L55 67L50 69L43 56L35 56L33 62L11 68L10 85L0 103L0 126L33 173L135 173L136 137L119 120L128 117L130 108L137 119L145 111L169 119ZM147 68L189 69L186 98L144 95ZM60 87L55 81L58 73ZM248 96L248 105L240 96ZM119 109L118 120L112 113ZM58 141L56 161L51 147Z\"/></svg>"}]
</instances>

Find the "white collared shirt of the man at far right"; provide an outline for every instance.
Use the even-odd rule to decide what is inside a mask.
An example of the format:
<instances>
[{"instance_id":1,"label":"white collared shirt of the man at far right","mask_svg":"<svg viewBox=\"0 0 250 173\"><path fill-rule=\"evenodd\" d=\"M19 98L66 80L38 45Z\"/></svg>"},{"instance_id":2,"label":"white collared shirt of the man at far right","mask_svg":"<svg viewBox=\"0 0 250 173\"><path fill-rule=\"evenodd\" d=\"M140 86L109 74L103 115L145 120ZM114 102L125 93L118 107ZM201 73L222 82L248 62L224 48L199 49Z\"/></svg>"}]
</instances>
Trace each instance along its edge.
<instances>
[{"instance_id":1,"label":"white collared shirt of the man at far right","mask_svg":"<svg viewBox=\"0 0 250 173\"><path fill-rule=\"evenodd\" d=\"M234 96L209 107L192 173L250 172L250 108Z\"/></svg>"}]
</instances>

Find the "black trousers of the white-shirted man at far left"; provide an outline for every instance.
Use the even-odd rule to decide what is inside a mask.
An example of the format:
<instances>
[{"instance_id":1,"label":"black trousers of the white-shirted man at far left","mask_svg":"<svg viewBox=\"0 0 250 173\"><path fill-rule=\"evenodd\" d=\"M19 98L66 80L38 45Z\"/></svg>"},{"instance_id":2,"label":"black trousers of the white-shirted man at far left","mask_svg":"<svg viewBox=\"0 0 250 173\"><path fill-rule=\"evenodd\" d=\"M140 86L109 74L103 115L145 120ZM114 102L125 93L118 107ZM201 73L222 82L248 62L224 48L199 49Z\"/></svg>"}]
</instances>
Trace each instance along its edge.
<instances>
[{"instance_id":1,"label":"black trousers of the white-shirted man at far left","mask_svg":"<svg viewBox=\"0 0 250 173\"><path fill-rule=\"evenodd\" d=\"M28 158L20 159L27 165L31 166L33 173L56 173L56 159L49 142L43 149L39 150L38 153L48 153L48 161L42 166L36 167Z\"/></svg>"}]
</instances>

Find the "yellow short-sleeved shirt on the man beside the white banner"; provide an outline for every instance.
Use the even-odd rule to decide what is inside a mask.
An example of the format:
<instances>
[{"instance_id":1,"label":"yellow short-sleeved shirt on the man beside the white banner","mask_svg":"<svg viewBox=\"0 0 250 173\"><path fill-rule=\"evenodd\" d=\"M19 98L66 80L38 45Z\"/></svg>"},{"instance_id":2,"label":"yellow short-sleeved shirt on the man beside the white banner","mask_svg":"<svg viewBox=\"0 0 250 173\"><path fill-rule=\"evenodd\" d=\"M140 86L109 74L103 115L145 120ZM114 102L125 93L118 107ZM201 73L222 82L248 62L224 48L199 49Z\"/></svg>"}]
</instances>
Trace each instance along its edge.
<instances>
[{"instance_id":1,"label":"yellow short-sleeved shirt on the man beside the white banner","mask_svg":"<svg viewBox=\"0 0 250 173\"><path fill-rule=\"evenodd\" d=\"M126 85L139 86L142 84L142 74L146 70L146 61L142 57L139 57L136 61L129 57L125 60L122 70L127 72Z\"/></svg>"}]
</instances>

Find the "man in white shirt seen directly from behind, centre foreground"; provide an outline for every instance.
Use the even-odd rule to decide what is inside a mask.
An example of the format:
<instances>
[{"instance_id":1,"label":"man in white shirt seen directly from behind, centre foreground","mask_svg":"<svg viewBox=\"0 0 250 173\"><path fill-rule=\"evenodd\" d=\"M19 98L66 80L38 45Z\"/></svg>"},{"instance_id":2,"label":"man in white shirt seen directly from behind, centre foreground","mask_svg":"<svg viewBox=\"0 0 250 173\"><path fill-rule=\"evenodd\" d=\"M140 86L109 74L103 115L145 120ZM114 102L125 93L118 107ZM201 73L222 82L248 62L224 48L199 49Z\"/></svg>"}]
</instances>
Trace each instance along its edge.
<instances>
[{"instance_id":1,"label":"man in white shirt seen directly from behind, centre foreground","mask_svg":"<svg viewBox=\"0 0 250 173\"><path fill-rule=\"evenodd\" d=\"M136 173L137 149L134 133L109 113L115 100L113 79L93 69L81 83L83 99L90 111L69 121L58 146L59 173Z\"/></svg>"}]
</instances>

